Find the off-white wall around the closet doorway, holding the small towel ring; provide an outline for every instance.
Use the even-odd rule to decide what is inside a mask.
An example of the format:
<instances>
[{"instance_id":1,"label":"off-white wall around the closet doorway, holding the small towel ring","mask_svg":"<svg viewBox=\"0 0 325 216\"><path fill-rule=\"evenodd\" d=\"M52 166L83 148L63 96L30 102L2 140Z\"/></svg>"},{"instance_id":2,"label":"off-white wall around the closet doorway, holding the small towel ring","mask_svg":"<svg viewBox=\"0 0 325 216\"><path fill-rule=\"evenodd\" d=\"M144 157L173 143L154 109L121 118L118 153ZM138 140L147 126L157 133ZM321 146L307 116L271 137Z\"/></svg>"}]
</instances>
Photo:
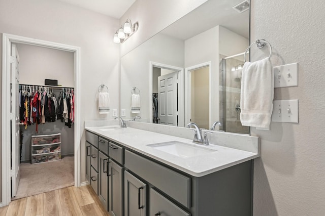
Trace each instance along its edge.
<instances>
[{"instance_id":1,"label":"off-white wall around the closet doorway, holding the small towel ring","mask_svg":"<svg viewBox=\"0 0 325 216\"><path fill-rule=\"evenodd\" d=\"M84 120L112 118L99 115L96 108L101 83L110 89L111 108L119 108L119 45L112 39L118 27L117 19L60 1L0 2L0 32L81 48L81 155L85 155ZM81 182L85 181L83 159Z\"/></svg>"}]
</instances>

